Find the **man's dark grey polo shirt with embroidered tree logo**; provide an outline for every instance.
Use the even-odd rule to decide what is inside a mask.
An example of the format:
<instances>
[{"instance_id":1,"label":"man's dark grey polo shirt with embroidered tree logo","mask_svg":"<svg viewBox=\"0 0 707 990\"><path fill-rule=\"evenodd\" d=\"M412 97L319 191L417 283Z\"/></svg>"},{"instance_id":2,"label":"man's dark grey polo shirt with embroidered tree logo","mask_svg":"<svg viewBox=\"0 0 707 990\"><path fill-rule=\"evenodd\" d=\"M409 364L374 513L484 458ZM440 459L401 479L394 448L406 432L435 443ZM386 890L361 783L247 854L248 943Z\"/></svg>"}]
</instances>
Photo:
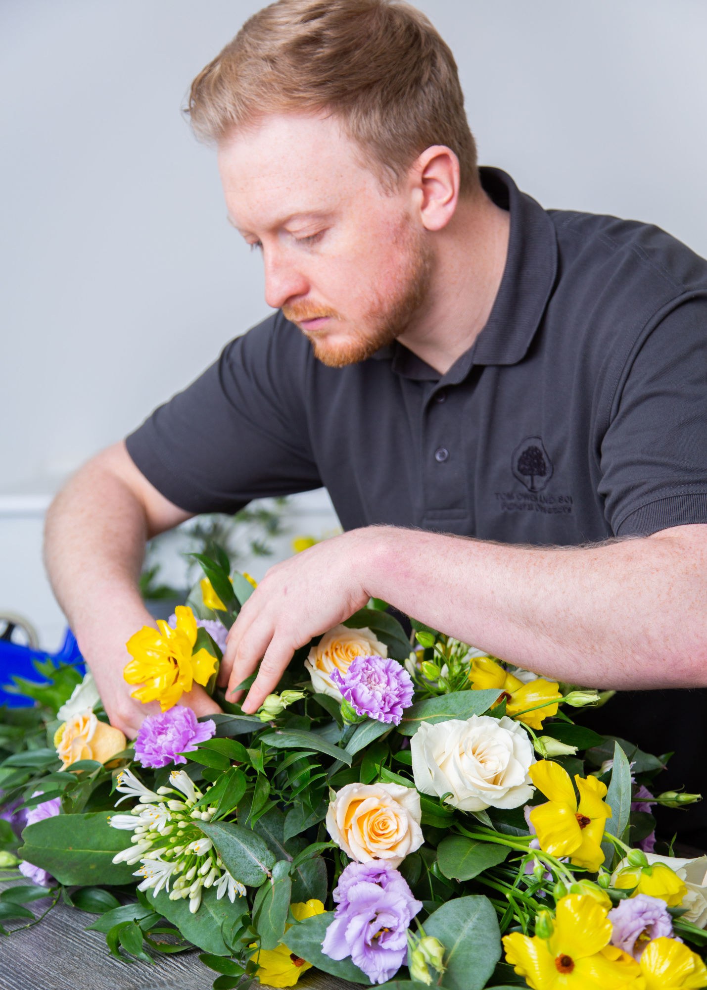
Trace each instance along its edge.
<instances>
[{"instance_id":1,"label":"man's dark grey polo shirt with embroidered tree logo","mask_svg":"<svg viewBox=\"0 0 707 990\"><path fill-rule=\"evenodd\" d=\"M445 375L398 343L326 367L278 312L128 438L152 484L194 513L324 485L345 530L509 544L707 523L707 262L656 227L545 210L481 175L510 211L508 258Z\"/></svg>"}]
</instances>

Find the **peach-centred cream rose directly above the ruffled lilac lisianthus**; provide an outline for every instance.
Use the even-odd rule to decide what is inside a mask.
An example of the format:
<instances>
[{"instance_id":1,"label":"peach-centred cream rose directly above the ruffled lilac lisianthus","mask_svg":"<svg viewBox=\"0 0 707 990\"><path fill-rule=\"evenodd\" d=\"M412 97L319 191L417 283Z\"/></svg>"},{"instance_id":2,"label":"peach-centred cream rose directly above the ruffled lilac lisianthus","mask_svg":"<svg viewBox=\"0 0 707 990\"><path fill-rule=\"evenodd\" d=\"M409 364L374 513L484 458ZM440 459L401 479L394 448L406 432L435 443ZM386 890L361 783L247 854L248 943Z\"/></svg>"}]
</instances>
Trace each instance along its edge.
<instances>
[{"instance_id":1,"label":"peach-centred cream rose directly above the ruffled lilac lisianthus","mask_svg":"<svg viewBox=\"0 0 707 990\"><path fill-rule=\"evenodd\" d=\"M420 795L402 784L347 784L327 811L327 831L356 862L398 866L423 843Z\"/></svg>"}]
</instances>

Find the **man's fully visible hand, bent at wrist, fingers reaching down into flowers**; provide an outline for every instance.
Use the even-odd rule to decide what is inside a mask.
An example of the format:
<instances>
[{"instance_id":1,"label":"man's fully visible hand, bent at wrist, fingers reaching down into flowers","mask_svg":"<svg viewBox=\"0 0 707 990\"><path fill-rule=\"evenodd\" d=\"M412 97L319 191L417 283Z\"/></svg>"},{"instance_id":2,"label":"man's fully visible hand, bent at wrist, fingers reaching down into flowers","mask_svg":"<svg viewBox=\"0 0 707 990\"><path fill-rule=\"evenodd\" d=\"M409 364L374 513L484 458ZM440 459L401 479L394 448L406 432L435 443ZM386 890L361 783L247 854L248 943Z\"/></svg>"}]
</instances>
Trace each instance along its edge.
<instances>
[{"instance_id":1,"label":"man's fully visible hand, bent at wrist, fingers reaching down into flowers","mask_svg":"<svg viewBox=\"0 0 707 990\"><path fill-rule=\"evenodd\" d=\"M219 673L229 701L241 697L234 689L260 660L243 703L244 712L255 712L296 649L363 608L370 597L365 577L375 532L353 530L270 567L229 633Z\"/></svg>"}]
</instances>

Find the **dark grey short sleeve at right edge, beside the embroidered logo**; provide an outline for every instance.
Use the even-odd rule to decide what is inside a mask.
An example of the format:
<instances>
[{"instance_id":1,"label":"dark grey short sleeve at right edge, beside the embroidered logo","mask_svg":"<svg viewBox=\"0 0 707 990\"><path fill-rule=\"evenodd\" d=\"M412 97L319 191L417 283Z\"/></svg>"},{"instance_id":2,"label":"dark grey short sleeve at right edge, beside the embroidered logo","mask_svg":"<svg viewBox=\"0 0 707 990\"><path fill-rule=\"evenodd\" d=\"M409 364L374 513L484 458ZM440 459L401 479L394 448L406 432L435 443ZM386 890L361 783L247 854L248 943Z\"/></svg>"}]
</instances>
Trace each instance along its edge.
<instances>
[{"instance_id":1,"label":"dark grey short sleeve at right edge, beside the embroidered logo","mask_svg":"<svg viewBox=\"0 0 707 990\"><path fill-rule=\"evenodd\" d=\"M615 535L707 523L707 295L679 300L637 342L600 462Z\"/></svg>"}]
</instances>

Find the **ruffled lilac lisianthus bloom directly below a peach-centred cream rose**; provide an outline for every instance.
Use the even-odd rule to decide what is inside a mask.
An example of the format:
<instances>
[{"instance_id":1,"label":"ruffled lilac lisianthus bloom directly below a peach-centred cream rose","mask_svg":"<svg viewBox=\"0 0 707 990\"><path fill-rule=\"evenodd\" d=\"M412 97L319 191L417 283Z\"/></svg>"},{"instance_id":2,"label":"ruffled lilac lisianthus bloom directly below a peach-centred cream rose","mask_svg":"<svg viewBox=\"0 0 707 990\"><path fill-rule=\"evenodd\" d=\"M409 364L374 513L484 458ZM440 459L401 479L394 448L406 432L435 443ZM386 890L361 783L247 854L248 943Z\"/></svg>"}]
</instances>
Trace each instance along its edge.
<instances>
[{"instance_id":1,"label":"ruffled lilac lisianthus bloom directly below a peach-centred cream rose","mask_svg":"<svg viewBox=\"0 0 707 990\"><path fill-rule=\"evenodd\" d=\"M408 927L422 908L403 876L381 862L350 863L334 892L338 902L322 950L351 955L371 983L385 983L405 961Z\"/></svg>"}]
</instances>

